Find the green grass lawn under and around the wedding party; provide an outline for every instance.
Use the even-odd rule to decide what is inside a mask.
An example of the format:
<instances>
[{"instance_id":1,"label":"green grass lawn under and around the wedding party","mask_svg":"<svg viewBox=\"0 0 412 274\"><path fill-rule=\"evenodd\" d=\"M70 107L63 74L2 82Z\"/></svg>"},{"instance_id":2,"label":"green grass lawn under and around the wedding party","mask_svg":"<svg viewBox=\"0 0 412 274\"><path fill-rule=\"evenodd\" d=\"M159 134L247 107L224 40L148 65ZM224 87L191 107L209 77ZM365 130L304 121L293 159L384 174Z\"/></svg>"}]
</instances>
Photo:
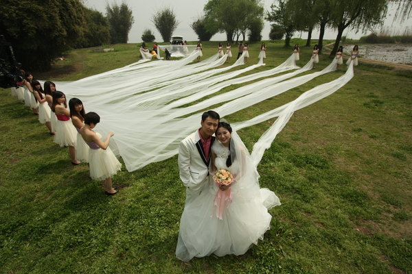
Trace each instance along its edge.
<instances>
[{"instance_id":1,"label":"green grass lawn under and around the wedding party","mask_svg":"<svg viewBox=\"0 0 412 274\"><path fill-rule=\"evenodd\" d=\"M203 59L217 46L204 42ZM114 47L70 51L34 76L80 79L139 60L136 44ZM282 43L266 47L266 66L255 71L292 53ZM251 45L247 65L259 48ZM232 53L231 63L236 45ZM310 53L301 47L297 64ZM319 59L314 71L330 63ZM225 118L251 119L345 69ZM0 273L412 273L411 106L412 71L360 62L347 85L295 112L264 153L260 185L282 201L264 240L244 256L184 263L174 256L185 201L176 156L123 169L113 178L122 189L107 197L87 165L72 166L37 116L0 90ZM239 132L249 151L271 123Z\"/></svg>"}]
</instances>

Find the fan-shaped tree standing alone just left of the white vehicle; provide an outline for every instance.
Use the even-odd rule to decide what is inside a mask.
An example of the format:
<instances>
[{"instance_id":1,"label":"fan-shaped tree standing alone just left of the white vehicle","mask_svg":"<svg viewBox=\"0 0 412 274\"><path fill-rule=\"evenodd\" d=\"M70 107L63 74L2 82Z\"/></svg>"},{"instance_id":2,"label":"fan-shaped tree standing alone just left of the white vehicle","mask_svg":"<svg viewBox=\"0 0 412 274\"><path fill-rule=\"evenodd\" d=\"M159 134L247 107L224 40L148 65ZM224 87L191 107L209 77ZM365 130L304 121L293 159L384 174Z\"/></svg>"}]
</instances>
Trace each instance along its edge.
<instances>
[{"instance_id":1,"label":"fan-shaped tree standing alone just left of the white vehicle","mask_svg":"<svg viewBox=\"0 0 412 274\"><path fill-rule=\"evenodd\" d=\"M155 24L156 29L160 32L163 42L169 42L174 30L179 22L176 20L176 15L170 8L165 8L156 12L152 18L152 22Z\"/></svg>"}]
</instances>

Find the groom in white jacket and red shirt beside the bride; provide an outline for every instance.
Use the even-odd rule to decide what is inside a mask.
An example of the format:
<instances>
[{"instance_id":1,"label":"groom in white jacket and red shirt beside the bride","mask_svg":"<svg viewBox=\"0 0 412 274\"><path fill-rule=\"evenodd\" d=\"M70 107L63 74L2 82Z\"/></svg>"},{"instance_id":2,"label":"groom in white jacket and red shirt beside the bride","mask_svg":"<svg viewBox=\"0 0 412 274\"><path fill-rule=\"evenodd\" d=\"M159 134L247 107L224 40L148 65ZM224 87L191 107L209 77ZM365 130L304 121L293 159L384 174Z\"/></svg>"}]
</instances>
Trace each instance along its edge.
<instances>
[{"instance_id":1,"label":"groom in white jacket and red shirt beside the bride","mask_svg":"<svg viewBox=\"0 0 412 274\"><path fill-rule=\"evenodd\" d=\"M186 203L198 196L209 182L212 136L220 116L213 110L202 114L201 128L183 139L179 145L179 171L186 187Z\"/></svg>"}]
</instances>

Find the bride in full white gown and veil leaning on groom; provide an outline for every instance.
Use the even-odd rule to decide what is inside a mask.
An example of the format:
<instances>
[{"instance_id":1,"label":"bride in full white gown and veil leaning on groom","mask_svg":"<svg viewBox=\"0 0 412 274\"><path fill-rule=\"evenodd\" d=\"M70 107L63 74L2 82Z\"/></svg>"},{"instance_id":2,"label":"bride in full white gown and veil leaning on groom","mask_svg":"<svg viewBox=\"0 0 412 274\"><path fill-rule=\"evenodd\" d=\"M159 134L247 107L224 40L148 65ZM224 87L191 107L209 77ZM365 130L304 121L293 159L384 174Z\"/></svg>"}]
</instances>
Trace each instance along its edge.
<instances>
[{"instance_id":1,"label":"bride in full white gown and veil leaning on groom","mask_svg":"<svg viewBox=\"0 0 412 274\"><path fill-rule=\"evenodd\" d=\"M225 169L233 180L230 186L209 182L196 199L186 204L176 247L177 258L186 262L211 253L244 254L270 229L272 216L268 209L280 205L275 193L259 187L259 174L249 151L229 123L220 121L216 138L211 147L211 173Z\"/></svg>"}]
</instances>

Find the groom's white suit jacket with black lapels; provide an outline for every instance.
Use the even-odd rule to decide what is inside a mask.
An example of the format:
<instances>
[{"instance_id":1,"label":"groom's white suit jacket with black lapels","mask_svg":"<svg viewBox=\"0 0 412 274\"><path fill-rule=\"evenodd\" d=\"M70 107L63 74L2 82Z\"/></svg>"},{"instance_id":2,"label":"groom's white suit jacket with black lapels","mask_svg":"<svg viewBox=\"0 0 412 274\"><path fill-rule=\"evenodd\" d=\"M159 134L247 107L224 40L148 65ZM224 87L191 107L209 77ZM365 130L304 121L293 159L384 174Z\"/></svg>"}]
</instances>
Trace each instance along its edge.
<instances>
[{"instance_id":1,"label":"groom's white suit jacket with black lapels","mask_svg":"<svg viewBox=\"0 0 412 274\"><path fill-rule=\"evenodd\" d=\"M197 130L180 142L178 162L180 177L186 187L186 201L200 194L209 183L211 145L214 140L215 137L211 136L209 158L205 157L201 137Z\"/></svg>"}]
</instances>

